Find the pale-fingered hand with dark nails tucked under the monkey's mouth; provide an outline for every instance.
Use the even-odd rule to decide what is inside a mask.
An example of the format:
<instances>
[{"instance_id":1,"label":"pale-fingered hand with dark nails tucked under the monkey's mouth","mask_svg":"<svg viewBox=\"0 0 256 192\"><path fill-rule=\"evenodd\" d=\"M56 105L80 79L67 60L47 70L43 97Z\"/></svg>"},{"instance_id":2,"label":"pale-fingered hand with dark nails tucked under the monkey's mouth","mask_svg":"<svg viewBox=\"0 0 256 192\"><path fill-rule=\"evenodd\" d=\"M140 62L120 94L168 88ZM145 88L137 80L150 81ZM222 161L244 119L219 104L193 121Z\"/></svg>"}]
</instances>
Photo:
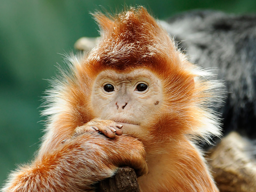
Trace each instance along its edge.
<instances>
[{"instance_id":1,"label":"pale-fingered hand with dark nails tucked under the monkey's mouth","mask_svg":"<svg viewBox=\"0 0 256 192\"><path fill-rule=\"evenodd\" d=\"M77 127L73 137L81 135L87 131L99 131L108 138L114 138L116 135L122 135L123 125L117 124L111 120L93 119L84 125Z\"/></svg>"}]
</instances>

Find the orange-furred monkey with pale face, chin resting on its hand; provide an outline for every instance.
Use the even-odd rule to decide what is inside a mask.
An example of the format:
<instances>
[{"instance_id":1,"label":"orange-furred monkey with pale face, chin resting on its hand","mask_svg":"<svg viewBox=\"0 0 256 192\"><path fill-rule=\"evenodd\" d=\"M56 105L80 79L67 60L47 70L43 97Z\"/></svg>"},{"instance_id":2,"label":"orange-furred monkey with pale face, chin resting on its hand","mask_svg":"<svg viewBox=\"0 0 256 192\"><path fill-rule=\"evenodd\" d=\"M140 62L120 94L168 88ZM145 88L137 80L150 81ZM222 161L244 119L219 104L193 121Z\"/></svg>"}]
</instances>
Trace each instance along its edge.
<instances>
[{"instance_id":1,"label":"orange-furred monkey with pale face, chin resting on its hand","mask_svg":"<svg viewBox=\"0 0 256 192\"><path fill-rule=\"evenodd\" d=\"M101 39L52 80L46 133L2 192L94 191L120 166L140 190L218 192L199 141L220 136L223 83L188 61L144 7L94 14Z\"/></svg>"}]
</instances>

